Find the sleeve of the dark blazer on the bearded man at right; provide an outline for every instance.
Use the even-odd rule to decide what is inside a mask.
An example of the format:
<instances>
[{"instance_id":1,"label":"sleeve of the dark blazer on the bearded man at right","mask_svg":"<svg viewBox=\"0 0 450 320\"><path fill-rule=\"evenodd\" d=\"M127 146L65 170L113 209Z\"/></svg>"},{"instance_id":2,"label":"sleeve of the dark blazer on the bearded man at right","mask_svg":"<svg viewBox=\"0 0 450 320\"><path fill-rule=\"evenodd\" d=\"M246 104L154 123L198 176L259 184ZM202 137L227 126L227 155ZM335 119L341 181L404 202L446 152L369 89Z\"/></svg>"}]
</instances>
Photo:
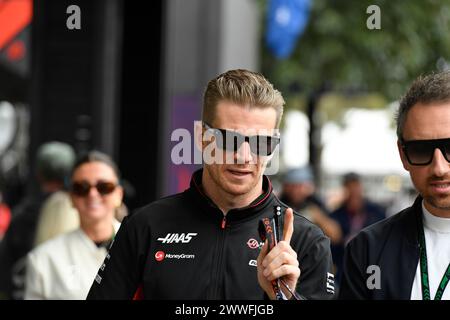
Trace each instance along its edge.
<instances>
[{"instance_id":1,"label":"sleeve of the dark blazer on the bearded man at right","mask_svg":"<svg viewBox=\"0 0 450 320\"><path fill-rule=\"evenodd\" d=\"M367 256L367 241L362 233L350 241L345 248L344 265L340 300L370 299L370 290L367 288L367 274L364 257Z\"/></svg>"}]
</instances>

